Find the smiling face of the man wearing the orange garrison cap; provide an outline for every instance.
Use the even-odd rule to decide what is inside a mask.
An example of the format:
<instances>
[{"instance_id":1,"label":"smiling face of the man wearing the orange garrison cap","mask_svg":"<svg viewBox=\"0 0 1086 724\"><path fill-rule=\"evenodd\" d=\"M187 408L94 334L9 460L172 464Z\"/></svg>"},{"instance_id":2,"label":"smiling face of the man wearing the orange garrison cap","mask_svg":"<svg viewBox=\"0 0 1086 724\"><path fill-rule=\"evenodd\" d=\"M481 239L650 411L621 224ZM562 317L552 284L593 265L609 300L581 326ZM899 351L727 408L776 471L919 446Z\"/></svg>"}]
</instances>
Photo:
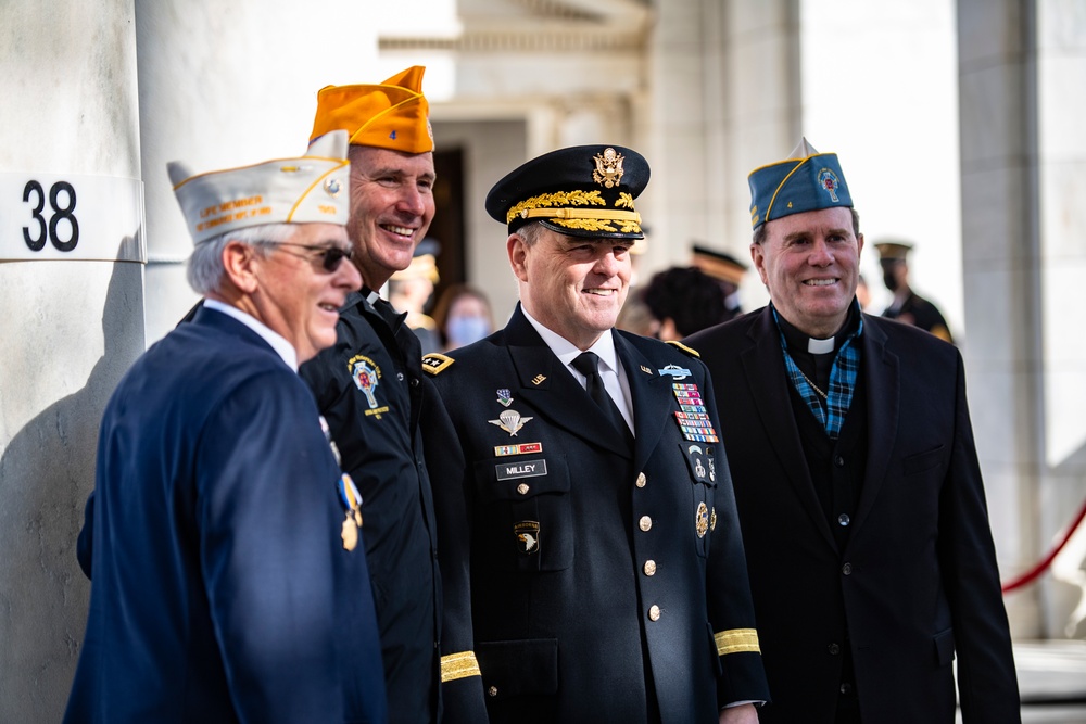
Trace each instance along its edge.
<instances>
[{"instance_id":1,"label":"smiling face of the man wearing the orange garrison cap","mask_svg":"<svg viewBox=\"0 0 1086 724\"><path fill-rule=\"evenodd\" d=\"M363 282L380 289L406 269L433 220L433 153L351 147L351 218L346 230Z\"/></svg>"}]
</instances>

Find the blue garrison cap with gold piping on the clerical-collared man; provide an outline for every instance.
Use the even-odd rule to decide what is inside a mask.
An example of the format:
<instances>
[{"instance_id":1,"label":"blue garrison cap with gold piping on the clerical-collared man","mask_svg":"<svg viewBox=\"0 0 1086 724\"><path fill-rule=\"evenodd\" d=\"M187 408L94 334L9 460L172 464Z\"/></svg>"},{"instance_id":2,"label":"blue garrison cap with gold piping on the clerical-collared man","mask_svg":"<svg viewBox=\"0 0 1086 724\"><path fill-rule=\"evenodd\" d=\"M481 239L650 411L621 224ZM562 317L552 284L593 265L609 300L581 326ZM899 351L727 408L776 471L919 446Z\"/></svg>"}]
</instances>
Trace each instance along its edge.
<instances>
[{"instance_id":1,"label":"blue garrison cap with gold piping on the clerical-collared man","mask_svg":"<svg viewBox=\"0 0 1086 724\"><path fill-rule=\"evenodd\" d=\"M807 139L792 157L760 166L747 176L750 183L750 226L757 229L791 214L834 206L853 207L836 153L819 153Z\"/></svg>"}]
</instances>

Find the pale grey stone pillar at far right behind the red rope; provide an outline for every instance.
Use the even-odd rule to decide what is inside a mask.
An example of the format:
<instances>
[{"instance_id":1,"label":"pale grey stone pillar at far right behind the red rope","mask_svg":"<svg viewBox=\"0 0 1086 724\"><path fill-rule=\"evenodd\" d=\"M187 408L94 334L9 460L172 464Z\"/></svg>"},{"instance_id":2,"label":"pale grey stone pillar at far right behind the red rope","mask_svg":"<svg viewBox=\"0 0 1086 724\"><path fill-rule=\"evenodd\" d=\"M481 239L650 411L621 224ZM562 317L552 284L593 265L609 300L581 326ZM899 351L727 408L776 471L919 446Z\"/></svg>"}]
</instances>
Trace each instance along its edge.
<instances>
[{"instance_id":1,"label":"pale grey stone pillar at far right behind the red rope","mask_svg":"<svg viewBox=\"0 0 1086 724\"><path fill-rule=\"evenodd\" d=\"M962 229L973 421L1003 577L1030 568L1086 477L1086 14L960 0ZM1082 535L1008 596L1019 637L1082 637Z\"/></svg>"}]
</instances>

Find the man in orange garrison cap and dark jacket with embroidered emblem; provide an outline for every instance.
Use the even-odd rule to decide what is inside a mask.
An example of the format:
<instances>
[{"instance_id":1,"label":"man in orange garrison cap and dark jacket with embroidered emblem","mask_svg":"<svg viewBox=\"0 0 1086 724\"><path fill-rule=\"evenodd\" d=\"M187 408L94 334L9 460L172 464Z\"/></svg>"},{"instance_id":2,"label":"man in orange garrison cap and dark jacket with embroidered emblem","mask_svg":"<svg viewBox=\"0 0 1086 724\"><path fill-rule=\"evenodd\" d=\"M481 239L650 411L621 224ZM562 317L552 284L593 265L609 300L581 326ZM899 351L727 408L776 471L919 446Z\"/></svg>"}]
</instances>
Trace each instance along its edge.
<instances>
[{"instance_id":1,"label":"man in orange garrison cap and dark jacket with embroidered emblem","mask_svg":"<svg viewBox=\"0 0 1086 724\"><path fill-rule=\"evenodd\" d=\"M437 537L418 416L418 339L377 290L406 268L433 219L433 136L422 67L317 93L311 142L345 130L346 229L363 289L340 310L337 342L302 366L345 472L362 493L363 539L380 630L390 722L438 716ZM358 594L366 587L362 582ZM353 625L349 621L344 626Z\"/></svg>"}]
</instances>

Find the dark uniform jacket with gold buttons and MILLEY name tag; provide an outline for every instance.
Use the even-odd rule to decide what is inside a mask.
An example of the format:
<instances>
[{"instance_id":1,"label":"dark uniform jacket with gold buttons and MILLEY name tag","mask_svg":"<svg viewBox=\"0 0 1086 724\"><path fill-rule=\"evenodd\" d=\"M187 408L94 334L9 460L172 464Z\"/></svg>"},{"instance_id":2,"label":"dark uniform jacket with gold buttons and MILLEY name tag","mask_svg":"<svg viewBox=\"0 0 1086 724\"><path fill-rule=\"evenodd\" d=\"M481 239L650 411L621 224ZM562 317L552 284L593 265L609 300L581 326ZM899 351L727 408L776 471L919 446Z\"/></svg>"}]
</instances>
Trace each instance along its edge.
<instances>
[{"instance_id":1,"label":"dark uniform jacket with gold buttons and MILLEY name tag","mask_svg":"<svg viewBox=\"0 0 1086 724\"><path fill-rule=\"evenodd\" d=\"M452 364L427 359L445 722L648 722L658 702L664 722L708 724L768 697L728 466L683 439L678 378L660 371L689 370L716 419L705 367L656 340L615 344L632 449L519 307Z\"/></svg>"}]
</instances>

